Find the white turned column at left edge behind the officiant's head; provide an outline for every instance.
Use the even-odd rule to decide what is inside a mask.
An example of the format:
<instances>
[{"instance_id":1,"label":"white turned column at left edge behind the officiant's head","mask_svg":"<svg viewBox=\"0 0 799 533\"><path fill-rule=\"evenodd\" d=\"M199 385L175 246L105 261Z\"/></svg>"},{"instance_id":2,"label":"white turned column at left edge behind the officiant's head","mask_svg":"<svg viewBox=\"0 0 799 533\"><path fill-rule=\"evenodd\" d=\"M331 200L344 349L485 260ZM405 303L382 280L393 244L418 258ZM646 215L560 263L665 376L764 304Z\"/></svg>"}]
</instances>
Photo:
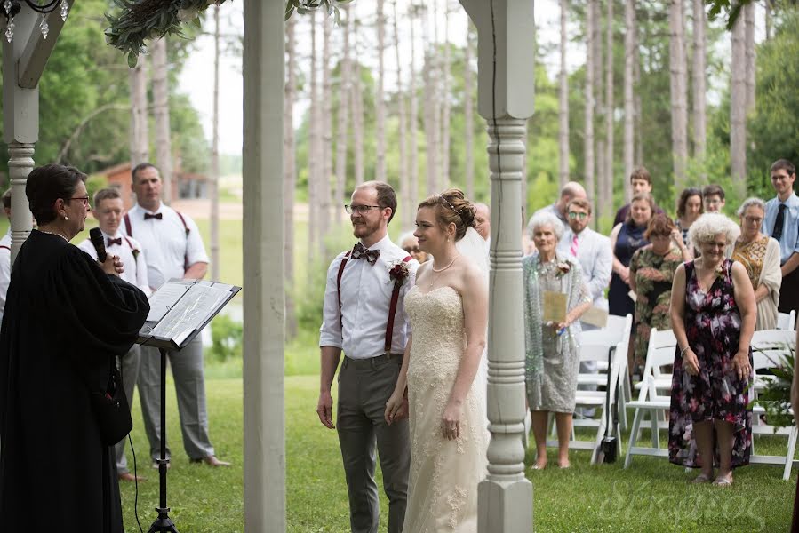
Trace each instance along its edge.
<instances>
[{"instance_id":1,"label":"white turned column at left edge behind the officiant's head","mask_svg":"<svg viewBox=\"0 0 799 533\"><path fill-rule=\"evenodd\" d=\"M34 145L39 139L39 88L38 84L23 88L18 80L28 37L38 31L37 20L35 13L24 6L14 18L16 28L11 43L2 35L5 25L0 31L0 39L3 39L3 139L8 145L12 187L12 264L33 227L25 184L34 167Z\"/></svg>"}]
</instances>

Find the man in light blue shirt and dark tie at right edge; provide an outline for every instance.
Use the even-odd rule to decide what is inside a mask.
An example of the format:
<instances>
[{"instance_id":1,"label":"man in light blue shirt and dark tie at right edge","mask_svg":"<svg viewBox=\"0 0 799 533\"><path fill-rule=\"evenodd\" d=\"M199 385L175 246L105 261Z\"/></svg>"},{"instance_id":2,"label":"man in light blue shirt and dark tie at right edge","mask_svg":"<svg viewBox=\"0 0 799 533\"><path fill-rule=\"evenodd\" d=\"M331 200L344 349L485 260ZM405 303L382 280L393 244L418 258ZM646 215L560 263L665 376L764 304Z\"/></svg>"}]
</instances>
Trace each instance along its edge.
<instances>
[{"instance_id":1,"label":"man in light blue shirt and dark tie at right edge","mask_svg":"<svg viewBox=\"0 0 799 533\"><path fill-rule=\"evenodd\" d=\"M779 243L780 313L799 309L799 197L794 192L795 179L794 163L779 159L771 164L771 185L777 196L766 203L763 233Z\"/></svg>"}]
</instances>

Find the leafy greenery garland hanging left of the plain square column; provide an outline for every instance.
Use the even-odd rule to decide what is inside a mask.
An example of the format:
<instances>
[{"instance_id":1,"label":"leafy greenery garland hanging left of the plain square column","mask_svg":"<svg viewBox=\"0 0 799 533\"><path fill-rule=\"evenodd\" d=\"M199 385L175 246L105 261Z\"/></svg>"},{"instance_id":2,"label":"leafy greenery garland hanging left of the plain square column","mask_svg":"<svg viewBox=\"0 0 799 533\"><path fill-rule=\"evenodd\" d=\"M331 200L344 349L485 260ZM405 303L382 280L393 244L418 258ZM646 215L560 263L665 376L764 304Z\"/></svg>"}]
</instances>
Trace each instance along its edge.
<instances>
[{"instance_id":1,"label":"leafy greenery garland hanging left of the plain square column","mask_svg":"<svg viewBox=\"0 0 799 533\"><path fill-rule=\"evenodd\" d=\"M128 66L134 68L140 53L147 52L146 41L166 35L182 36L180 27L192 23L200 28L199 15L212 4L225 0L114 0L120 10L107 14L110 27L106 42L127 54Z\"/></svg>"}]
</instances>

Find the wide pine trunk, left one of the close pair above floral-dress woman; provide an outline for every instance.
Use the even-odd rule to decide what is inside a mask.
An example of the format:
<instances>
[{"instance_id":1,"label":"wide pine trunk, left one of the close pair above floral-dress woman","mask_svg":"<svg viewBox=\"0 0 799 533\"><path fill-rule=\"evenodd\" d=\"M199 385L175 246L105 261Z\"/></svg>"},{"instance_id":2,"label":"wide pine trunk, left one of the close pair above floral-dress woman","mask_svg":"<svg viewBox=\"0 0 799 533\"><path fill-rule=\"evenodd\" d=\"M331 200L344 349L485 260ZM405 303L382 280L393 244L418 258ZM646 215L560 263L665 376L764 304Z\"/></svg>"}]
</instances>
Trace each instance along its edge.
<instances>
[{"instance_id":1,"label":"wide pine trunk, left one of the close pair above floral-dress woman","mask_svg":"<svg viewBox=\"0 0 799 533\"><path fill-rule=\"evenodd\" d=\"M686 102L686 58L683 0L670 0L668 26L669 69L671 71L671 142L674 158L675 191L688 184L688 105Z\"/></svg>"}]
</instances>

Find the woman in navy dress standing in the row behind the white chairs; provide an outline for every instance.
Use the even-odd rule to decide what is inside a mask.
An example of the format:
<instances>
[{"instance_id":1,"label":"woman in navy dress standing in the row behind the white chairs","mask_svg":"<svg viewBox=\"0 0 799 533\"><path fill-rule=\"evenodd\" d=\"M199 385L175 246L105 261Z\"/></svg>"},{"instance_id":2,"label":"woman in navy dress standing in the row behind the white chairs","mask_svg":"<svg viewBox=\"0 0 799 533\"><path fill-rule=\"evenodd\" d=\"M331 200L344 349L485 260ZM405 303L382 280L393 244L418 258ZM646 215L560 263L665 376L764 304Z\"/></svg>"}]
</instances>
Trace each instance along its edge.
<instances>
[{"instance_id":1,"label":"woman in navy dress standing in the row behind the white chairs","mask_svg":"<svg viewBox=\"0 0 799 533\"><path fill-rule=\"evenodd\" d=\"M646 226L652 218L654 208L655 203L649 193L633 196L627 220L611 231L613 274L611 290L608 291L610 314L618 316L635 314L635 303L629 297L630 259L636 250L649 243L643 232L646 231Z\"/></svg>"}]
</instances>

